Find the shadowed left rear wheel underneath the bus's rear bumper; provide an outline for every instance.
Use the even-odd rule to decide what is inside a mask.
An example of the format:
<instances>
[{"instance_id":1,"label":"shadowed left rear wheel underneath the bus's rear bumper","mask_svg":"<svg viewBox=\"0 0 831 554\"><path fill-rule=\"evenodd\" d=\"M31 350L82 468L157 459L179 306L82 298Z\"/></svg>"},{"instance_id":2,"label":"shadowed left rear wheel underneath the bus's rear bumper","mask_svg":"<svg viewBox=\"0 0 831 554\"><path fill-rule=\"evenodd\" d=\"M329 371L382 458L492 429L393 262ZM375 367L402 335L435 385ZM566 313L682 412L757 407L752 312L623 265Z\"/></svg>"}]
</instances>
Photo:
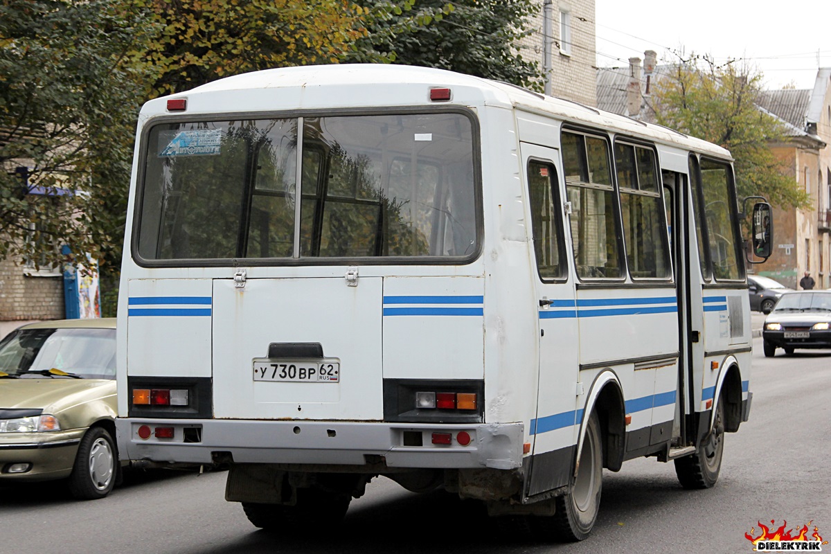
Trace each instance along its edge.
<instances>
[{"instance_id":1,"label":"shadowed left rear wheel underneath the bus's rear bumper","mask_svg":"<svg viewBox=\"0 0 831 554\"><path fill-rule=\"evenodd\" d=\"M269 532L299 535L320 528L320 522L337 525L344 516L352 497L329 493L318 488L298 488L297 504L259 504L243 502L243 511L254 527Z\"/></svg>"}]
</instances>

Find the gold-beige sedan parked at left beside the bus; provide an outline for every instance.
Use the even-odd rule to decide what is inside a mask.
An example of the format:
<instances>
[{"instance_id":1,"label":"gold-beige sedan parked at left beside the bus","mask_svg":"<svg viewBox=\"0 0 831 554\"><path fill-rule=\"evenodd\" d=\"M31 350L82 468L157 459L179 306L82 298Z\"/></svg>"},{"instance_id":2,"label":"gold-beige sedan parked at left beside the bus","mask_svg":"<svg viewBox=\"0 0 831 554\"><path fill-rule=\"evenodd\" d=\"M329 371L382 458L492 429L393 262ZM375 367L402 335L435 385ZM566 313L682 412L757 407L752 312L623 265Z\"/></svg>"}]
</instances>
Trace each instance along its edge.
<instances>
[{"instance_id":1,"label":"gold-beige sedan parked at left beside the bus","mask_svg":"<svg viewBox=\"0 0 831 554\"><path fill-rule=\"evenodd\" d=\"M104 498L116 450L116 319L46 321L0 341L0 483L66 479Z\"/></svg>"}]
</instances>

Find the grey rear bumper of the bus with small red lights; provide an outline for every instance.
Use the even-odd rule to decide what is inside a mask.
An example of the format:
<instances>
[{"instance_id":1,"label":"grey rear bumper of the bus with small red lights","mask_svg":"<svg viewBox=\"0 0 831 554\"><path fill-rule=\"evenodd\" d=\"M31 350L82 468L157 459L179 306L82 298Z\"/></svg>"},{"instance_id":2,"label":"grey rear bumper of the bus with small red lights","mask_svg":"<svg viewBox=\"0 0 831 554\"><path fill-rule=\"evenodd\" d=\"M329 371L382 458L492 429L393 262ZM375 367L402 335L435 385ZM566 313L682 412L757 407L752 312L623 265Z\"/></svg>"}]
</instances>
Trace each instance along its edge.
<instances>
[{"instance_id":1,"label":"grey rear bumper of the bus with small red lights","mask_svg":"<svg viewBox=\"0 0 831 554\"><path fill-rule=\"evenodd\" d=\"M170 428L172 438L157 436L159 429L168 429L162 435L170 434ZM522 466L524 455L521 423L119 418L116 431L122 458L157 463L210 464L222 459L364 466L381 457L389 468L514 469Z\"/></svg>"}]
</instances>

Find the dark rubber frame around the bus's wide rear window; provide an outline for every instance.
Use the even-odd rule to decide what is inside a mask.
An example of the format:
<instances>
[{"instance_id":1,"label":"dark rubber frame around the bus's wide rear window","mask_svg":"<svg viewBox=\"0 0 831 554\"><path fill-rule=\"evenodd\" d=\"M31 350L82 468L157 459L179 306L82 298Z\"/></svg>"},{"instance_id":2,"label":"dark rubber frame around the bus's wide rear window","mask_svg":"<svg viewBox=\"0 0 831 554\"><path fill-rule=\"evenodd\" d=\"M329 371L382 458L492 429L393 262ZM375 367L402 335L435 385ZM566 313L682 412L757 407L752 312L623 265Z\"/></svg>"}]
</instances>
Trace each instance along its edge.
<instances>
[{"instance_id":1,"label":"dark rubber frame around the bus's wide rear window","mask_svg":"<svg viewBox=\"0 0 831 554\"><path fill-rule=\"evenodd\" d=\"M148 155L148 141L150 131L156 125L188 124L200 121L238 121L238 120L291 120L304 117L348 117L348 116L375 116L375 115L432 115L457 114L470 121L471 134L471 162L473 164L473 194L475 214L476 248L466 256L390 256L390 257L204 257L204 258L168 258L153 260L141 257L139 253L139 237L142 227L142 208L145 198L145 172ZM302 267L302 266L332 266L332 265L378 265L378 266L467 266L484 252L484 197L482 176L482 140L481 125L475 110L458 105L447 106L401 106L381 108L348 108L348 109L320 109L320 110L274 110L274 111L241 111L241 112L210 112L199 114L157 115L145 121L139 137L139 152L137 157L133 221L130 225L130 259L139 267L232 267L243 264L247 267ZM299 188L299 187L298 187ZM244 195L243 195L244 196ZM302 189L301 189L302 201ZM247 202L248 198L240 199L240 203Z\"/></svg>"}]
</instances>

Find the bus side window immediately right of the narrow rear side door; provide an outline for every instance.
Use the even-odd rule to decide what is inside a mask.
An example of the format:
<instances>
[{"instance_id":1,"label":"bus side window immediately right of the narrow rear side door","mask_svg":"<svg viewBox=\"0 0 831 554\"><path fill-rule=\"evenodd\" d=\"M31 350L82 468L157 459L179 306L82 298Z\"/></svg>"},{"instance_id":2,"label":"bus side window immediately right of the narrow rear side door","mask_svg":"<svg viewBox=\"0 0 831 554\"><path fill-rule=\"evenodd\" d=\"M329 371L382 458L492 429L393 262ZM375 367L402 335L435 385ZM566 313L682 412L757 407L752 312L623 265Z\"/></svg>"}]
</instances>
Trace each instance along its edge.
<instances>
[{"instance_id":1,"label":"bus side window immediately right of the narrow rear side door","mask_svg":"<svg viewBox=\"0 0 831 554\"><path fill-rule=\"evenodd\" d=\"M623 273L608 141L564 131L562 147L578 277L620 278Z\"/></svg>"}]
</instances>

